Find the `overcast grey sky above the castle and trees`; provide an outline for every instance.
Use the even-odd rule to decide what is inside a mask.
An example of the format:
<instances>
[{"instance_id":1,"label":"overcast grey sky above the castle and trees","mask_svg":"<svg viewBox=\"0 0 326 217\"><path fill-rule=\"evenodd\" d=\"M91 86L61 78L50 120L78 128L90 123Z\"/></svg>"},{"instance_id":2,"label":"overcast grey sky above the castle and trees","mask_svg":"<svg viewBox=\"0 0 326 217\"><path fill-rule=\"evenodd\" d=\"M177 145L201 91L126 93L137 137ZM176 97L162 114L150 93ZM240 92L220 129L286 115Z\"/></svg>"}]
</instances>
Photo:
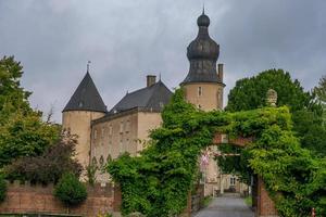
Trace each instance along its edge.
<instances>
[{"instance_id":1,"label":"overcast grey sky above the castle and trees","mask_svg":"<svg viewBox=\"0 0 326 217\"><path fill-rule=\"evenodd\" d=\"M168 88L186 77L186 49L203 0L0 0L0 55L24 66L33 107L61 123L86 73L108 108L161 74ZM237 79L284 68L306 90L326 74L325 0L205 0L210 35L225 64L225 98Z\"/></svg>"}]
</instances>

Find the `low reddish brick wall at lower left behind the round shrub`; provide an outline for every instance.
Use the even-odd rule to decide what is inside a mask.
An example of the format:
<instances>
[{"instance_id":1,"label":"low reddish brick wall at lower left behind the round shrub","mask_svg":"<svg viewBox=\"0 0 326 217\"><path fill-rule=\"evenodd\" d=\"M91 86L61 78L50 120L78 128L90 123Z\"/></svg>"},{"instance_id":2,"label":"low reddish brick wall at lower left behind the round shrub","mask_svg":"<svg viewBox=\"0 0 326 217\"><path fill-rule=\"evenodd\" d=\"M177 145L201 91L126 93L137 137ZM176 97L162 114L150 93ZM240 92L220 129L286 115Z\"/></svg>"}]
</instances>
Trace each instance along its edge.
<instances>
[{"instance_id":1,"label":"low reddish brick wall at lower left behind the round shrub","mask_svg":"<svg viewBox=\"0 0 326 217\"><path fill-rule=\"evenodd\" d=\"M18 182L9 183L7 199L0 203L0 213L48 213L65 214L67 208L52 195L53 186L30 186ZM70 207L71 214L96 217L98 214L112 213L114 188L108 184L87 187L87 200Z\"/></svg>"}]
</instances>

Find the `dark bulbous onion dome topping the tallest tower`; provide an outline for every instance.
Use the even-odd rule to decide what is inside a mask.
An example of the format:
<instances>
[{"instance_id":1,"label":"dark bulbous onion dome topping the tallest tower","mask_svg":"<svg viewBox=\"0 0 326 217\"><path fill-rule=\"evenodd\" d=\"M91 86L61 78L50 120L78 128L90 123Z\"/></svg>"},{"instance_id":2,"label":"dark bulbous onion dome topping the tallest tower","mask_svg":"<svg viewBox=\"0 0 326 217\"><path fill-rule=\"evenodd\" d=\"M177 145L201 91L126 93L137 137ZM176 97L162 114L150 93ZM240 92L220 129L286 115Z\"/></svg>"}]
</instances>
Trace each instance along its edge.
<instances>
[{"instance_id":1,"label":"dark bulbous onion dome topping the tallest tower","mask_svg":"<svg viewBox=\"0 0 326 217\"><path fill-rule=\"evenodd\" d=\"M222 82L216 73L216 62L220 46L210 37L210 17L203 13L198 17L198 35L187 48L187 58L190 68L187 77L181 82Z\"/></svg>"}]
</instances>

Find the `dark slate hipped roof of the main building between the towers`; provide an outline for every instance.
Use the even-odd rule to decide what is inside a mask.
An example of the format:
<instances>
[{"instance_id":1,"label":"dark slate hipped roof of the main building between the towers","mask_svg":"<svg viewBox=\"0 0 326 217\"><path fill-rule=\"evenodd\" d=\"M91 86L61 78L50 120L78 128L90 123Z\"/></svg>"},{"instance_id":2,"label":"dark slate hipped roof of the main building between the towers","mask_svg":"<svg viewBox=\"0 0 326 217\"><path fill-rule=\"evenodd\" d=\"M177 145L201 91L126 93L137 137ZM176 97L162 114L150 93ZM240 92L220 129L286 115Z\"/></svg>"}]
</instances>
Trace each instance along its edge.
<instances>
[{"instance_id":1,"label":"dark slate hipped roof of the main building between the towers","mask_svg":"<svg viewBox=\"0 0 326 217\"><path fill-rule=\"evenodd\" d=\"M110 113L118 113L134 107L149 108L161 112L163 106L170 102L171 90L159 80L150 87L146 87L134 92L127 93Z\"/></svg>"}]
</instances>

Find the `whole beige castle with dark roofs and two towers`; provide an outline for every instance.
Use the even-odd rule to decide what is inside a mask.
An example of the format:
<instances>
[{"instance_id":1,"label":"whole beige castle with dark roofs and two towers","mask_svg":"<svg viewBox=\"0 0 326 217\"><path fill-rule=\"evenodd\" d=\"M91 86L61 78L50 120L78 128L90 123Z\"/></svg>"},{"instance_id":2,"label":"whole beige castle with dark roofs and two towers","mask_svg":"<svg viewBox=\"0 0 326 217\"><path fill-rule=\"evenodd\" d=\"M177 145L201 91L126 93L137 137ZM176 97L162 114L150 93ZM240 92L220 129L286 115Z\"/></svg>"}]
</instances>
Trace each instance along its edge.
<instances>
[{"instance_id":1,"label":"whole beige castle with dark roofs and two towers","mask_svg":"<svg viewBox=\"0 0 326 217\"><path fill-rule=\"evenodd\" d=\"M180 82L186 100L199 110L223 108L223 64L217 64L220 46L210 37L210 18L203 13L198 17L197 38L187 48L190 62L188 75ZM108 159L121 153L137 155L145 149L149 131L158 128L161 112L168 103L172 91L155 76L147 76L147 86L127 93L110 111L98 92L89 72L70 99L62 112L63 129L78 136L77 158L83 166L90 164L102 167ZM99 182L108 182L109 175L99 173ZM236 178L223 176L216 162L210 157L205 168L205 194L213 190L221 192L230 186L241 189Z\"/></svg>"}]
</instances>

